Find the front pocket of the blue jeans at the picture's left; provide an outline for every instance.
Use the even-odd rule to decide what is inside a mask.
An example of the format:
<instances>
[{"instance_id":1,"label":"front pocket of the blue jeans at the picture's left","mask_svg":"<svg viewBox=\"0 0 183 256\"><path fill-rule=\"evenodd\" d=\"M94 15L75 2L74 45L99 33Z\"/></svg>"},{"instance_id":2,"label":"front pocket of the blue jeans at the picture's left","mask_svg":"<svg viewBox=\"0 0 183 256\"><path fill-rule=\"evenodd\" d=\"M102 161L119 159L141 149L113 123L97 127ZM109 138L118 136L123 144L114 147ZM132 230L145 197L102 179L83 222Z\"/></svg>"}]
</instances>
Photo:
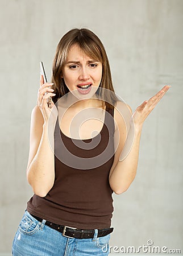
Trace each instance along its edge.
<instances>
[{"instance_id":1,"label":"front pocket of the blue jeans at the picture's left","mask_svg":"<svg viewBox=\"0 0 183 256\"><path fill-rule=\"evenodd\" d=\"M32 235L32 234L35 234L39 230L40 225L41 224L38 220L36 220L33 217L30 218L25 213L22 220L20 221L18 229L20 232L22 232L24 234Z\"/></svg>"}]
</instances>

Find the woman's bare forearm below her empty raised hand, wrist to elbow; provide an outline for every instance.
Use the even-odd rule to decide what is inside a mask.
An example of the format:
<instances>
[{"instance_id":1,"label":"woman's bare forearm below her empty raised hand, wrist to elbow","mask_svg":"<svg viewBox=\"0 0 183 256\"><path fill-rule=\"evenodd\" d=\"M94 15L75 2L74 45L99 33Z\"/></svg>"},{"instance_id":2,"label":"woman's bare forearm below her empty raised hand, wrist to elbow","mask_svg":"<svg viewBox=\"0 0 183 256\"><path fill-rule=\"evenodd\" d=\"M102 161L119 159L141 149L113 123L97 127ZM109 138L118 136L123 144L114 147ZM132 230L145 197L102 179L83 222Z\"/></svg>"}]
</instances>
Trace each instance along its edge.
<instances>
[{"instance_id":1,"label":"woman's bare forearm below her empty raised hand, wrist to elbow","mask_svg":"<svg viewBox=\"0 0 183 256\"><path fill-rule=\"evenodd\" d=\"M141 131L142 127L134 129L134 142L132 144L130 152L128 153L126 158L124 158L122 161L118 161L113 172L109 176L110 187L116 194L125 192L135 178L136 170L138 167ZM125 146L123 150L126 150ZM122 154L124 151L122 151Z\"/></svg>"}]
</instances>

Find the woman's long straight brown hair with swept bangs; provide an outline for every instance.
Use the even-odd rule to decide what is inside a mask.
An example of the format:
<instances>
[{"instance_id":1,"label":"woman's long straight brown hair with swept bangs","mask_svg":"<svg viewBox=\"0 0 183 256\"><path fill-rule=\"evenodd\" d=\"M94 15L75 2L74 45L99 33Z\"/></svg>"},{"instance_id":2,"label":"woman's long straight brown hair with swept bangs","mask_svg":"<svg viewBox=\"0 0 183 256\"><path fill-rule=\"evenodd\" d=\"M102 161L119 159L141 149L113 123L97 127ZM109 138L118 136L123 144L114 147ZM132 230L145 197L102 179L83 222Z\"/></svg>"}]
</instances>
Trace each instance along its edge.
<instances>
[{"instance_id":1,"label":"woman's long straight brown hair with swept bangs","mask_svg":"<svg viewBox=\"0 0 183 256\"><path fill-rule=\"evenodd\" d=\"M109 60L101 40L92 31L88 30L88 28L73 28L72 30L68 31L63 38L61 38L57 46L52 65L52 82L54 83L54 93L56 93L56 96L53 97L53 102L56 102L60 97L69 92L68 87L65 85L64 79L61 78L61 75L62 69L66 63L69 49L74 44L77 44L82 51L84 51L85 54L90 56L92 59L101 61L102 79L96 94L102 98L102 108L105 108L105 105L106 108L113 108L118 98L114 93ZM102 90L101 88L108 90ZM113 93L110 93L110 91Z\"/></svg>"}]
</instances>

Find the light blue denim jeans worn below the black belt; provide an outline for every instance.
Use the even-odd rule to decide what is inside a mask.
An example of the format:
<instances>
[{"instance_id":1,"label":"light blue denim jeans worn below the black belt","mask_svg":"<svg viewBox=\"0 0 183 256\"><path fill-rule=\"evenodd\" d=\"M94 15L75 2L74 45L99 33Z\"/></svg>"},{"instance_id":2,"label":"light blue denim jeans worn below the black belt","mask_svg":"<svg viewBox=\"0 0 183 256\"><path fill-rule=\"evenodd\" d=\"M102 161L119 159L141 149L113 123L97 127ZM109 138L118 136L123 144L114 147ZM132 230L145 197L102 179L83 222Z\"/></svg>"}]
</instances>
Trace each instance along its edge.
<instances>
[{"instance_id":1,"label":"light blue denim jeans worn below the black belt","mask_svg":"<svg viewBox=\"0 0 183 256\"><path fill-rule=\"evenodd\" d=\"M15 234L13 256L106 256L109 255L110 234L93 238L77 239L64 237L62 233L39 222L30 213L24 213Z\"/></svg>"}]
</instances>

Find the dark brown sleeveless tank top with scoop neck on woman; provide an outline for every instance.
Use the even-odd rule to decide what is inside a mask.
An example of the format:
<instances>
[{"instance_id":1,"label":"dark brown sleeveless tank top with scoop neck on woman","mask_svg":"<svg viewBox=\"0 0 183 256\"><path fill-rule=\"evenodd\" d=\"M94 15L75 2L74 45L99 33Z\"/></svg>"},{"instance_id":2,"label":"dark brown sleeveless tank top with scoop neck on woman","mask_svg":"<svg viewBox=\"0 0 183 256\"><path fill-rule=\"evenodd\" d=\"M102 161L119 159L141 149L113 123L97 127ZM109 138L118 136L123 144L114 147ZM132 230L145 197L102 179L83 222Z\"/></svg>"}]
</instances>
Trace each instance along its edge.
<instances>
[{"instance_id":1,"label":"dark brown sleeveless tank top with scoop neck on woman","mask_svg":"<svg viewBox=\"0 0 183 256\"><path fill-rule=\"evenodd\" d=\"M114 161L114 108L106 109L102 130L91 139L72 139L55 127L55 183L47 196L34 195L27 210L45 220L80 229L110 228Z\"/></svg>"}]
</instances>

